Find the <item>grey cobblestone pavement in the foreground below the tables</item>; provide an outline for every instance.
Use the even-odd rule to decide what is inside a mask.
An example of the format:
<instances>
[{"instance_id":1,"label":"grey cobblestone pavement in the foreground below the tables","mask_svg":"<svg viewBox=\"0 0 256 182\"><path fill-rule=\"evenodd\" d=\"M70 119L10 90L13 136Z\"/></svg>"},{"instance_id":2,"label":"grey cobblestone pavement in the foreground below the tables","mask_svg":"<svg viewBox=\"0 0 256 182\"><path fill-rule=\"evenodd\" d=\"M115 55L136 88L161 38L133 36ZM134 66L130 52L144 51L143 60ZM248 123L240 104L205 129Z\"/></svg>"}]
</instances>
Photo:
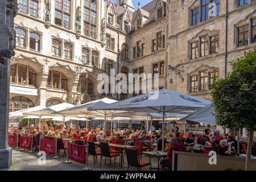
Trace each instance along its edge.
<instances>
[{"instance_id":1,"label":"grey cobblestone pavement in the foreground below the tables","mask_svg":"<svg viewBox=\"0 0 256 182\"><path fill-rule=\"evenodd\" d=\"M85 166L72 162L70 164L64 164L65 160L67 159L66 156L63 158L63 153L60 153L59 159L52 159L54 155L47 155L46 156L46 165L40 165L38 163L38 159L40 156L36 155L35 153L28 153L27 151L19 151L14 149L13 150L13 163L9 169L0 169L0 171L81 171L82 168ZM125 158L125 164L121 168L119 166L119 157L114 164L112 159L112 165L108 168L108 161L107 165L105 164L105 160L102 160L102 165L100 167L100 156L98 157L98 163L93 166L93 156L89 156L89 164L94 171L126 171L127 170L127 162ZM146 156L142 157L143 161L148 161L149 159ZM151 158L152 167L157 167L157 159ZM129 170L137 170L137 168L131 167ZM148 171L150 167L143 167L142 171Z\"/></svg>"}]
</instances>

